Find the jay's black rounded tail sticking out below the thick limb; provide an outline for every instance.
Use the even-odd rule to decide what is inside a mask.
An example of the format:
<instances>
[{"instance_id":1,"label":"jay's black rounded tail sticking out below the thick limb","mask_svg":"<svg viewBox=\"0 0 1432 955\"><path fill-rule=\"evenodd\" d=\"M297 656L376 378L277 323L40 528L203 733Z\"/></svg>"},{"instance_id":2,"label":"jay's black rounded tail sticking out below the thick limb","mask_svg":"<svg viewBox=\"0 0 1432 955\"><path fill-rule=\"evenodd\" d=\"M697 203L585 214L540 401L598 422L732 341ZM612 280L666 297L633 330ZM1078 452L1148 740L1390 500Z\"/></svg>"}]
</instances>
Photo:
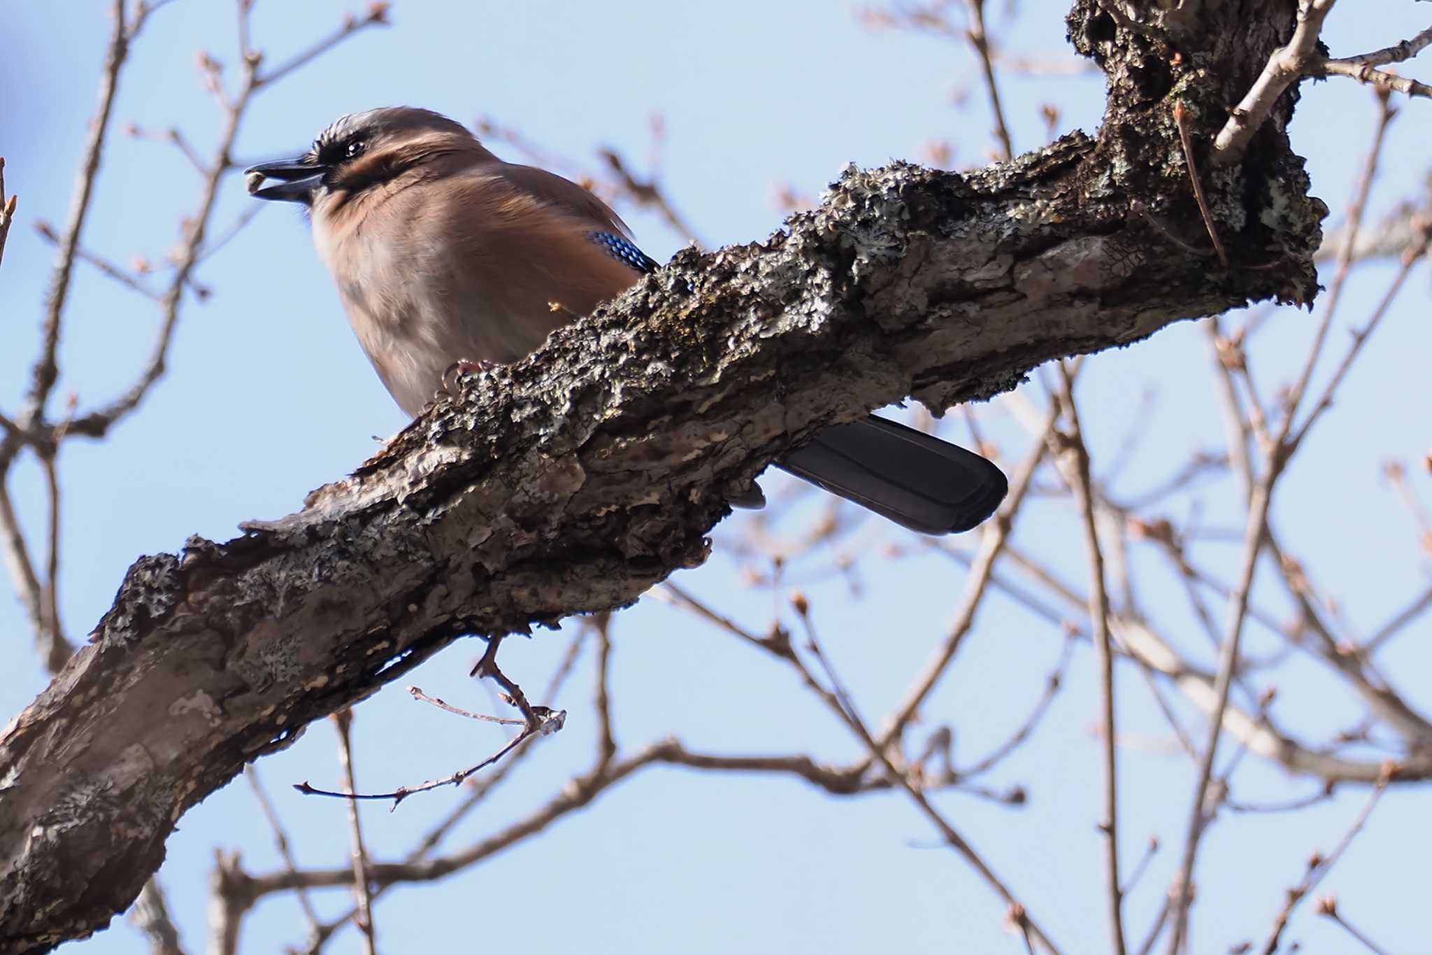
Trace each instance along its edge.
<instances>
[{"instance_id":1,"label":"jay's black rounded tail sticking out below the thick limb","mask_svg":"<svg viewBox=\"0 0 1432 955\"><path fill-rule=\"evenodd\" d=\"M975 527L1010 488L978 454L875 415L826 428L778 465L922 534Z\"/></svg>"}]
</instances>

